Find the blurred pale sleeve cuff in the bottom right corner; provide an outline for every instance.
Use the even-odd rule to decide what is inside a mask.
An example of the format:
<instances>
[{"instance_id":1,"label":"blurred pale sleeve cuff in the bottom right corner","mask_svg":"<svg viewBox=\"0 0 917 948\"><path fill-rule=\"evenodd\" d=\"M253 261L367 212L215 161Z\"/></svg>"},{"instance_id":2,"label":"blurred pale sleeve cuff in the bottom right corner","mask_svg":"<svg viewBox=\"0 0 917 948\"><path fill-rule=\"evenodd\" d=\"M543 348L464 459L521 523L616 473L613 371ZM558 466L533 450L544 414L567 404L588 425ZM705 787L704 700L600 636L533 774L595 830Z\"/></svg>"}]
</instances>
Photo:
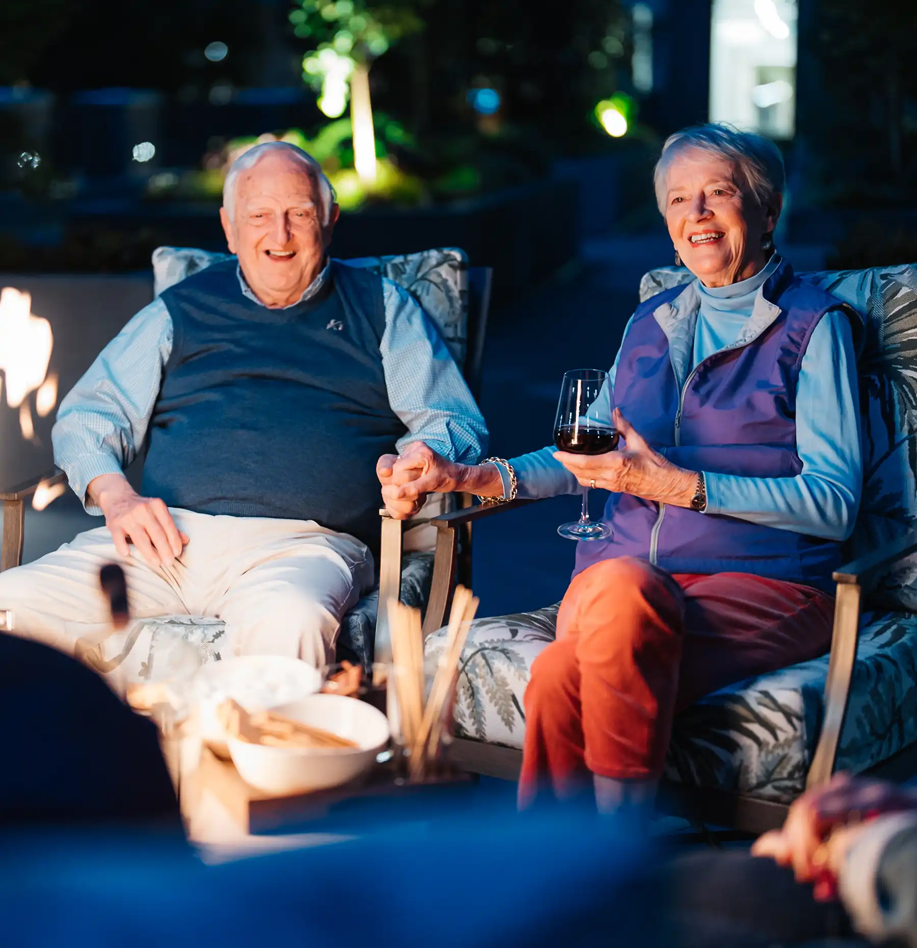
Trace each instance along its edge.
<instances>
[{"instance_id":1,"label":"blurred pale sleeve cuff in the bottom right corner","mask_svg":"<svg viewBox=\"0 0 917 948\"><path fill-rule=\"evenodd\" d=\"M877 882L882 854L893 836L917 825L917 813L889 813L863 830L847 852L837 879L844 907L856 930L868 938L883 937L888 920L879 904Z\"/></svg>"}]
</instances>

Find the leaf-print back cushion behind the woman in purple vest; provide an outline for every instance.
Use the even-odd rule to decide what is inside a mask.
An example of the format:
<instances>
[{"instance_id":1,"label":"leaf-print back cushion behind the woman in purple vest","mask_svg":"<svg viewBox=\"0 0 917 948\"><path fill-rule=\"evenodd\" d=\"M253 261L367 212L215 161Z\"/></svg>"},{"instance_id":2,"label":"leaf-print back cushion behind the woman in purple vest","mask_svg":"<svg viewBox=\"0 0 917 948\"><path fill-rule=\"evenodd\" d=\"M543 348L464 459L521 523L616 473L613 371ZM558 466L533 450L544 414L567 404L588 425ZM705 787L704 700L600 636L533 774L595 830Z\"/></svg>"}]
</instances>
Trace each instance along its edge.
<instances>
[{"instance_id":1,"label":"leaf-print back cushion behind the woman in purple vest","mask_svg":"<svg viewBox=\"0 0 917 948\"><path fill-rule=\"evenodd\" d=\"M917 522L917 264L800 273L800 278L865 319L859 357L863 499L847 544L854 558L881 549ZM640 301L692 279L684 267L651 270L640 281ZM905 560L872 593L871 602L917 611L917 556Z\"/></svg>"}]
</instances>

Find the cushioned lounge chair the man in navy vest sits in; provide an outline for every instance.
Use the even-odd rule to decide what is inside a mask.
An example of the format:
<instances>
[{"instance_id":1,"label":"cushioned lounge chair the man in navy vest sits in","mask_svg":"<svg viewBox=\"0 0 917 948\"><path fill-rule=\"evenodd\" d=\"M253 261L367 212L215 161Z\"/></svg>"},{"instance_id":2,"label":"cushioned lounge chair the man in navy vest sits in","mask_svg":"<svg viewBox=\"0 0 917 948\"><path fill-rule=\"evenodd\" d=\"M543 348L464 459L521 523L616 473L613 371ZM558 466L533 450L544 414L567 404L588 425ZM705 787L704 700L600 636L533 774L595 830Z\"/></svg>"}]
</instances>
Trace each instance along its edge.
<instances>
[{"instance_id":1,"label":"cushioned lounge chair the man in navy vest sits in","mask_svg":"<svg viewBox=\"0 0 917 948\"><path fill-rule=\"evenodd\" d=\"M159 247L153 252L153 296L174 283L185 279L204 267L227 258L227 254L210 253L187 247ZM367 266L384 274L389 280L405 287L423 305L424 311L436 323L441 336L462 370L472 394L477 397L481 382L481 364L484 337L490 306L492 271L488 267L468 267L463 251L454 247L425 250L420 253L390 257L367 257L349 263ZM25 505L41 481L48 485L66 483L66 476L54 470L44 478L35 478L7 491L0 491L3 502L3 538L0 547L0 570L18 566L22 561L25 535ZM398 550L394 558L383 557L381 572L384 582L394 581L407 605L423 608L430 589L433 572L433 548L438 536L429 521L451 511L458 498L435 495L411 520L405 521L404 544L402 524L398 524ZM471 583L471 526L458 527L462 549L462 581ZM402 551L404 548L404 556ZM395 575L392 575L392 571ZM364 596L345 616L338 638L337 657L358 662L366 667L373 659L373 643L378 638L387 640L386 623L375 631L378 590ZM14 621L14 617L13 617ZM135 649L155 647L160 635L178 635L201 648L203 654L220 656L221 639L225 634L222 622L202 620L196 616L170 616L164 619L142 620L149 625L148 635L137 638ZM6 613L0 603L0 629L5 628ZM382 647L383 658L386 648ZM226 656L223 656L226 657Z\"/></svg>"}]
</instances>

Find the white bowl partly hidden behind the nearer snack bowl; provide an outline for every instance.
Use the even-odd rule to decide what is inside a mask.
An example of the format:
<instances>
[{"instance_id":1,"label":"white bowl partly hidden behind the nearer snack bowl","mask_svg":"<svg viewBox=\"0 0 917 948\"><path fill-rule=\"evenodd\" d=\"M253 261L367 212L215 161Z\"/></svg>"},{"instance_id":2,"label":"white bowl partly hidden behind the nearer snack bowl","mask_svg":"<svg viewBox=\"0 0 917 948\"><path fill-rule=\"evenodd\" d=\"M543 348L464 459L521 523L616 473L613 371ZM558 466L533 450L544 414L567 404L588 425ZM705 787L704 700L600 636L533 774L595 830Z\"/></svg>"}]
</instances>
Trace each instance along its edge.
<instances>
[{"instance_id":1,"label":"white bowl partly hidden behind the nearer snack bowl","mask_svg":"<svg viewBox=\"0 0 917 948\"><path fill-rule=\"evenodd\" d=\"M321 673L313 665L282 655L243 655L203 665L191 683L198 704L201 738L221 757L228 757L226 733L217 707L232 698L246 711L264 711L296 702L321 688Z\"/></svg>"}]
</instances>

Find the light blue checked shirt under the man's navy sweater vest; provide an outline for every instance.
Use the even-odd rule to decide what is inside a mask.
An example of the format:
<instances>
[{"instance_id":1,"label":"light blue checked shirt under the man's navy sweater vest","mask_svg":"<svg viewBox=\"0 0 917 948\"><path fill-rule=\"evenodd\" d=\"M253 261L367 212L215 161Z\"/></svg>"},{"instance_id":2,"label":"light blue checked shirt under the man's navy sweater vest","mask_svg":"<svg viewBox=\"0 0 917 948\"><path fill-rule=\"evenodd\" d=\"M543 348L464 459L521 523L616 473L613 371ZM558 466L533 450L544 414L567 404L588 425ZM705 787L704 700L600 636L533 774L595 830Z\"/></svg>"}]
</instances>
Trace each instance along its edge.
<instances>
[{"instance_id":1,"label":"light blue checked shirt under the man's navy sweater vest","mask_svg":"<svg viewBox=\"0 0 917 948\"><path fill-rule=\"evenodd\" d=\"M329 270L326 264L292 305L314 297ZM243 294L263 305L241 269L238 274ZM379 350L388 402L407 428L398 450L423 441L451 461L476 464L487 450L487 427L459 367L404 288L383 280L383 296L386 329ZM109 342L63 399L51 432L54 460L87 513L101 514L86 497L89 482L121 473L143 446L171 347L171 316L157 298Z\"/></svg>"}]
</instances>

